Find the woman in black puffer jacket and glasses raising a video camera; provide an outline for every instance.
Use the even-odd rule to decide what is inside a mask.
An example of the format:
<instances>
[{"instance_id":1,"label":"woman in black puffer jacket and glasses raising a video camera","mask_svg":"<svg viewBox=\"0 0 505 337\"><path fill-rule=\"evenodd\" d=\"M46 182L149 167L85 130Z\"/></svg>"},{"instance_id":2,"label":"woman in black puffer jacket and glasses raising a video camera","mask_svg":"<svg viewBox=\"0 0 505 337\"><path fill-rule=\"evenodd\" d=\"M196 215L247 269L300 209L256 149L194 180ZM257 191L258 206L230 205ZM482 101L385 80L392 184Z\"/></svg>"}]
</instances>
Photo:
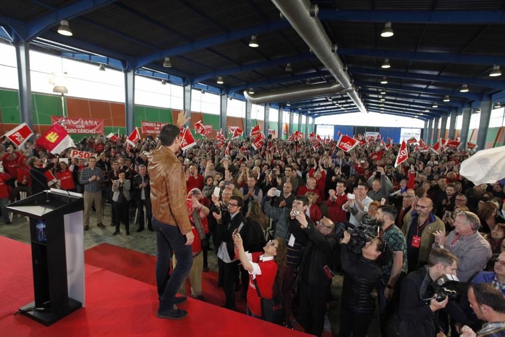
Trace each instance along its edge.
<instances>
[{"instance_id":1,"label":"woman in black puffer jacket and glasses raising a video camera","mask_svg":"<svg viewBox=\"0 0 505 337\"><path fill-rule=\"evenodd\" d=\"M342 302L340 305L340 337L351 334L366 337L375 310L372 296L380 280L380 266L391 258L391 251L381 237L367 242L358 255L347 244L351 237L347 231L340 239L340 263L344 271Z\"/></svg>"}]
</instances>

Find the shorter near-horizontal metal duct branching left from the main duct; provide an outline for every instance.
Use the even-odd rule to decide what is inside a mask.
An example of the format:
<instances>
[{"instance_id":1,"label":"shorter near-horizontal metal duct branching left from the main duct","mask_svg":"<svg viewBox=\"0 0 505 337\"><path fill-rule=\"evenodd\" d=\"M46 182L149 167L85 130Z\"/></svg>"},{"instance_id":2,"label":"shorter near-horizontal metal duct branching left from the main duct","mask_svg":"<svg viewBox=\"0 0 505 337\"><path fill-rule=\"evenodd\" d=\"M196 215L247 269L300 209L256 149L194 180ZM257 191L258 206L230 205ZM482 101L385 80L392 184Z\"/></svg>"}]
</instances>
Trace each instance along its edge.
<instances>
[{"instance_id":1,"label":"shorter near-horizontal metal duct branching left from the main duct","mask_svg":"<svg viewBox=\"0 0 505 337\"><path fill-rule=\"evenodd\" d=\"M251 102L252 104L265 104L332 95L336 93L342 93L343 91L343 87L340 83L331 82L304 85L296 88L263 91L258 93L249 93L247 90L244 90L244 96L247 102Z\"/></svg>"}]
</instances>

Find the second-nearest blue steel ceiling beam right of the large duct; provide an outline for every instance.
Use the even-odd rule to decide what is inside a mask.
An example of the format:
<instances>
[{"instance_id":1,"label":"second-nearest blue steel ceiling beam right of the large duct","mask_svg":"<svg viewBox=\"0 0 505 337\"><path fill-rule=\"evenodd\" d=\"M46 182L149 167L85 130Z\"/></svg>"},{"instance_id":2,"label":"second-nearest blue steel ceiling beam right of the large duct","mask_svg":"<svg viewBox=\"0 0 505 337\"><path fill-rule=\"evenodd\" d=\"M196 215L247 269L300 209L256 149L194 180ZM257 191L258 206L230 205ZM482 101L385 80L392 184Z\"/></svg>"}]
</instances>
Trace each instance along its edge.
<instances>
[{"instance_id":1,"label":"second-nearest blue steel ceiling beam right of the large duct","mask_svg":"<svg viewBox=\"0 0 505 337\"><path fill-rule=\"evenodd\" d=\"M479 65L505 65L505 57L483 56L483 55L461 55L445 53L425 53L407 52L397 50L363 49L363 48L339 48L338 55L345 56L366 56L375 58L389 58L397 60L444 62L459 64L479 64Z\"/></svg>"}]
</instances>

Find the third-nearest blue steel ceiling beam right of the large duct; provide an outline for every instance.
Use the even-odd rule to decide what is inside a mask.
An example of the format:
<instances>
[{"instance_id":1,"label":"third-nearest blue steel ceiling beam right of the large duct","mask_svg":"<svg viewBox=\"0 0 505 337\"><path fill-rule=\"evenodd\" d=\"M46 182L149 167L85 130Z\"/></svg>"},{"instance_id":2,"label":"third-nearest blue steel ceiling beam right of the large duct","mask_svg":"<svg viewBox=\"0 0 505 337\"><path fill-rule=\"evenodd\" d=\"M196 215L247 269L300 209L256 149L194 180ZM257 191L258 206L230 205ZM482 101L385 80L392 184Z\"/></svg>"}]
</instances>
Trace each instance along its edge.
<instances>
[{"instance_id":1,"label":"third-nearest blue steel ceiling beam right of the large duct","mask_svg":"<svg viewBox=\"0 0 505 337\"><path fill-rule=\"evenodd\" d=\"M396 77L396 78L410 78L423 81L436 81L436 82L449 82L458 84L470 84L470 85L480 85L489 88L495 88L498 90L505 90L505 81L501 80L488 80L480 78L471 77L457 77L457 76L444 76L444 75L428 75L420 73L408 73L401 71L385 71L378 69L369 68L356 68L351 67L348 71L352 74L364 74L371 76L386 76L386 77Z\"/></svg>"}]
</instances>

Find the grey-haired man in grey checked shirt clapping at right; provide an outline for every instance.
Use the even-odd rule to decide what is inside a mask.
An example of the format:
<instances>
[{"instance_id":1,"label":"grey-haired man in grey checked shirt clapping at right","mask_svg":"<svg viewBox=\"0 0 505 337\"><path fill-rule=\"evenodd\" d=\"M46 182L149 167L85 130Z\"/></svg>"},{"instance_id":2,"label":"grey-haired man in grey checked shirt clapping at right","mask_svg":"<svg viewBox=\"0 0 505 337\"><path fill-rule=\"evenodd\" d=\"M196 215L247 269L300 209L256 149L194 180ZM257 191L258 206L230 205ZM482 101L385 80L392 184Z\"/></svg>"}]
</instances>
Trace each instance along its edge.
<instances>
[{"instance_id":1,"label":"grey-haired man in grey checked shirt clapping at right","mask_svg":"<svg viewBox=\"0 0 505 337\"><path fill-rule=\"evenodd\" d=\"M487 261L492 256L491 246L478 232L480 220L472 212L460 212L454 220L454 227L447 237L445 230L435 233L433 247L448 250L458 257L458 278L462 282L468 281L477 271L484 270Z\"/></svg>"}]
</instances>

